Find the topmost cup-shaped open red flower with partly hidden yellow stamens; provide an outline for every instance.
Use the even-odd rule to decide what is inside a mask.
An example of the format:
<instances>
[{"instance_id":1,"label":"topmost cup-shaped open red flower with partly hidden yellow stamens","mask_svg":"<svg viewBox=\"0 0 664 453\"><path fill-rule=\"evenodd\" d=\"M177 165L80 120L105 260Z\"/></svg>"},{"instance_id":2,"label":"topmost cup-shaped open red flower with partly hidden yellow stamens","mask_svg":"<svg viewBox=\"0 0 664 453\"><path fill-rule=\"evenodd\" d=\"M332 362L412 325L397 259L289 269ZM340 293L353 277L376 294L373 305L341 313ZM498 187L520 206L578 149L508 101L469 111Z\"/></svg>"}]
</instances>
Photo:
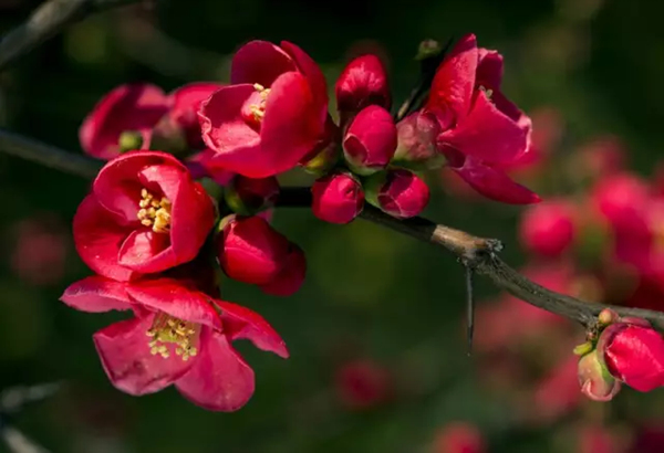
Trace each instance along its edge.
<instances>
[{"instance_id":1,"label":"topmost cup-shaped open red flower with partly hidden yellow stamens","mask_svg":"<svg viewBox=\"0 0 664 453\"><path fill-rule=\"evenodd\" d=\"M231 82L199 112L210 165L263 178L293 168L323 138L325 78L300 48L252 41L234 56Z\"/></svg>"}]
</instances>

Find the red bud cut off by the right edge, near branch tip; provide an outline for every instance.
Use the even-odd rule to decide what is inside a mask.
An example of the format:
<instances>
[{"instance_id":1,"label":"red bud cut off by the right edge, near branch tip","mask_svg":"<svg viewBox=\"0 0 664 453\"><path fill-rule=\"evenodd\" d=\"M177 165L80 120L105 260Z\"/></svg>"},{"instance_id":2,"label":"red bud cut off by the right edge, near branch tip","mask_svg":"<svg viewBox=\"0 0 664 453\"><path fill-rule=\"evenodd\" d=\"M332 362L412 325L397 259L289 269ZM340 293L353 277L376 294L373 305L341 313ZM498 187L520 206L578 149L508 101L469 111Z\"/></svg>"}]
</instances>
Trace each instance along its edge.
<instances>
[{"instance_id":1,"label":"red bud cut off by the right edge, near branch tip","mask_svg":"<svg viewBox=\"0 0 664 453\"><path fill-rule=\"evenodd\" d=\"M612 324L600 335L598 352L609 372L633 389L664 386L664 339L651 327Z\"/></svg>"}]
</instances>

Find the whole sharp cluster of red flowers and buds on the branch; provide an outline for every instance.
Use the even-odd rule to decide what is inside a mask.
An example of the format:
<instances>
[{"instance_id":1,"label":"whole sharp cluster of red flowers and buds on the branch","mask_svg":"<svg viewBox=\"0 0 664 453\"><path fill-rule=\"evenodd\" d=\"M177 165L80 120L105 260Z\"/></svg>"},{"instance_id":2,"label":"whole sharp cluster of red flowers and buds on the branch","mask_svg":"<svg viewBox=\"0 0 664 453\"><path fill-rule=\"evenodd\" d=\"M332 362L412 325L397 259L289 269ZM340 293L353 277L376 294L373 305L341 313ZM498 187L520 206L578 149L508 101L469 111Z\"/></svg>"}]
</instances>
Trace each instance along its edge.
<instances>
[{"instance_id":1,"label":"whole sharp cluster of red flowers and buds on the branch","mask_svg":"<svg viewBox=\"0 0 664 453\"><path fill-rule=\"evenodd\" d=\"M94 335L113 384L132 394L174 384L201 407L230 411L253 391L234 340L288 356L266 320L219 298L215 278L218 266L276 296L302 285L302 249L269 221L280 173L313 172L312 211L331 223L351 222L365 202L397 219L419 214L429 200L422 171L443 165L495 200L539 201L506 172L530 152L530 120L500 92L501 56L468 35L439 61L426 103L404 118L390 112L376 55L345 66L329 112L321 70L289 42L243 45L229 84L170 94L122 85L100 101L80 140L107 162L73 222L96 275L62 301L133 312Z\"/></svg>"}]
</instances>

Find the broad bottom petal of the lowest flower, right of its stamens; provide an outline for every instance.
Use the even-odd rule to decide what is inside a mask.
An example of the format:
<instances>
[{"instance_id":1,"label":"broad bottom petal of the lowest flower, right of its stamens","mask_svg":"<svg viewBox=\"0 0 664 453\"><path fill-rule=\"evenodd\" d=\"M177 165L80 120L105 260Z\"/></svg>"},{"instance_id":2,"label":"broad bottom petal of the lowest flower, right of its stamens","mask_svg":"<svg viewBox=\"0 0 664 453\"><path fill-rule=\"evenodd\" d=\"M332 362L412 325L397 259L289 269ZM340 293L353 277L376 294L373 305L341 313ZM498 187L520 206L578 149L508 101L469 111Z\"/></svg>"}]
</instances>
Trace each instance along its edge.
<instances>
[{"instance_id":1,"label":"broad bottom petal of the lowest flower, right of its stamens","mask_svg":"<svg viewBox=\"0 0 664 453\"><path fill-rule=\"evenodd\" d=\"M253 370L226 336L205 329L196 365L175 383L186 399L210 411L232 412L253 394Z\"/></svg>"}]
</instances>

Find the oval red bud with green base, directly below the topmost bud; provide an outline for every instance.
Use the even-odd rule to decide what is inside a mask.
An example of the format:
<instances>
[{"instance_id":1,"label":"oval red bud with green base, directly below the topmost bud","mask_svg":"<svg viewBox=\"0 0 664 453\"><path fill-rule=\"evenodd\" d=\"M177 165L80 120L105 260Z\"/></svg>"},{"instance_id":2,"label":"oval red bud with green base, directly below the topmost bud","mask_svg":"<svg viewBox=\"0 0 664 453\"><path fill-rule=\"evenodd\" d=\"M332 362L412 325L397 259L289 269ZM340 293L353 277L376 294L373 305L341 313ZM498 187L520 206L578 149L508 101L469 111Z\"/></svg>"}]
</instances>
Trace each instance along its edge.
<instances>
[{"instance_id":1,"label":"oval red bud with green base, directly below the topmost bud","mask_svg":"<svg viewBox=\"0 0 664 453\"><path fill-rule=\"evenodd\" d=\"M396 126L390 112L371 105L357 114L343 139L351 169L371 175L387 167L396 149Z\"/></svg>"}]
</instances>

